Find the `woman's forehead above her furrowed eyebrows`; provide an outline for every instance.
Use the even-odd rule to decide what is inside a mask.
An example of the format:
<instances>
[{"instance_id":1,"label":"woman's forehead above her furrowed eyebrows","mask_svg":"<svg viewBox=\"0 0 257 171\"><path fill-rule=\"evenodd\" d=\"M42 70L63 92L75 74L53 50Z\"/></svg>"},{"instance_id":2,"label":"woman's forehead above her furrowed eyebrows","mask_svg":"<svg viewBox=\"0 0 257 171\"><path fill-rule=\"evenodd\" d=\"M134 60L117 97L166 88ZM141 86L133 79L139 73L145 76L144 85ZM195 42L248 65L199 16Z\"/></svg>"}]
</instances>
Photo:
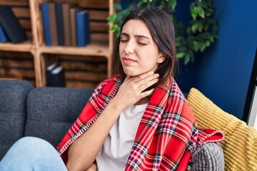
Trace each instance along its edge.
<instances>
[{"instance_id":1,"label":"woman's forehead above her furrowed eyebrows","mask_svg":"<svg viewBox=\"0 0 257 171\"><path fill-rule=\"evenodd\" d=\"M122 31L129 35L143 35L151 37L150 30L145 22L138 20L138 19L131 19L124 24Z\"/></svg>"}]
</instances>

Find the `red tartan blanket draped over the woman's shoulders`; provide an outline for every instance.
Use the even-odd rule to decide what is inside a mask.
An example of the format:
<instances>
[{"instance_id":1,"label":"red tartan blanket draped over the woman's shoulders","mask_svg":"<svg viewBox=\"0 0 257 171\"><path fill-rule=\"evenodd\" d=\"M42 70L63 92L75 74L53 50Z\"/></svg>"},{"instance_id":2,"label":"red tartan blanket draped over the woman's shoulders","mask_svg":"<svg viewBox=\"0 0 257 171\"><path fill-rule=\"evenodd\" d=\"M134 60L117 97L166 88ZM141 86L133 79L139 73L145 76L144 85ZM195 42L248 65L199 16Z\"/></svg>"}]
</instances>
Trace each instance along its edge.
<instances>
[{"instance_id":1,"label":"red tartan blanket draped over the woman's shoulders","mask_svg":"<svg viewBox=\"0 0 257 171\"><path fill-rule=\"evenodd\" d=\"M119 86L121 79L113 76L96 87L79 118L57 147L64 162L67 161L68 147L101 115ZM214 130L209 131L213 133ZM172 78L151 95L125 170L186 170L197 139L193 111Z\"/></svg>"}]
</instances>

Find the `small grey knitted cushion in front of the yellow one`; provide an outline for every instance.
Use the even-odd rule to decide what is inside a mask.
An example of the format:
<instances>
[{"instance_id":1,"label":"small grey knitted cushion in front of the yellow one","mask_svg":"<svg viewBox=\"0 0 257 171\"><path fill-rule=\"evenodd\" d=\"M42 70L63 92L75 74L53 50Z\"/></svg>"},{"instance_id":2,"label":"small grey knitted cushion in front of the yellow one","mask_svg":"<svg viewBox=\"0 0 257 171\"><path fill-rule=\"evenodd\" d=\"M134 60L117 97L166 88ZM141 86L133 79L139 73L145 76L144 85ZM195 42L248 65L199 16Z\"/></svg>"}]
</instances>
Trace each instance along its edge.
<instances>
[{"instance_id":1,"label":"small grey knitted cushion in front of the yellow one","mask_svg":"<svg viewBox=\"0 0 257 171\"><path fill-rule=\"evenodd\" d=\"M223 171L224 156L221 145L204 142L192 155L193 171Z\"/></svg>"}]
</instances>

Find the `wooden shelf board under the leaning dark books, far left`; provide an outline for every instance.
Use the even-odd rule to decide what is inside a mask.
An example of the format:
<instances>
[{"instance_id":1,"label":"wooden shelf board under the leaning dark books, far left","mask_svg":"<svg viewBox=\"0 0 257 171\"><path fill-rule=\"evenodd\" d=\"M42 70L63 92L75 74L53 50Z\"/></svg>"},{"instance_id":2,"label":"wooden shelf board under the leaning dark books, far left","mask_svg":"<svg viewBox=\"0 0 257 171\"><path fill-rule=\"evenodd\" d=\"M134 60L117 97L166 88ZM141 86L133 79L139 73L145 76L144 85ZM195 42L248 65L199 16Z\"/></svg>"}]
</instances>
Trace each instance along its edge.
<instances>
[{"instance_id":1,"label":"wooden shelf board under the leaning dark books, far left","mask_svg":"<svg viewBox=\"0 0 257 171\"><path fill-rule=\"evenodd\" d=\"M21 51L31 52L35 49L31 41L24 41L22 43L0 43L0 51Z\"/></svg>"}]
</instances>

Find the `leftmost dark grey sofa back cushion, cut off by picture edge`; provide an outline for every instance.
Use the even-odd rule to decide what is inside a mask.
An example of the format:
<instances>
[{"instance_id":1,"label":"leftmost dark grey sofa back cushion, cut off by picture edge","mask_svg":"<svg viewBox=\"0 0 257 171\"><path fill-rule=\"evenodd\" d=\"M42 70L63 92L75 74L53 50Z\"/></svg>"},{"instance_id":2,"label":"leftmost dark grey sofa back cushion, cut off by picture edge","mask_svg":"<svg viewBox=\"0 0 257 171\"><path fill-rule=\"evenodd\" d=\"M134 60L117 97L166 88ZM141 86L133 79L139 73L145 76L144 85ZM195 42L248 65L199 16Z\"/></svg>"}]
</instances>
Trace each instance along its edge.
<instances>
[{"instance_id":1,"label":"leftmost dark grey sofa back cushion, cut off by picture edge","mask_svg":"<svg viewBox=\"0 0 257 171\"><path fill-rule=\"evenodd\" d=\"M28 81L0 80L0 160L24 136L26 96L32 88Z\"/></svg>"}]
</instances>

